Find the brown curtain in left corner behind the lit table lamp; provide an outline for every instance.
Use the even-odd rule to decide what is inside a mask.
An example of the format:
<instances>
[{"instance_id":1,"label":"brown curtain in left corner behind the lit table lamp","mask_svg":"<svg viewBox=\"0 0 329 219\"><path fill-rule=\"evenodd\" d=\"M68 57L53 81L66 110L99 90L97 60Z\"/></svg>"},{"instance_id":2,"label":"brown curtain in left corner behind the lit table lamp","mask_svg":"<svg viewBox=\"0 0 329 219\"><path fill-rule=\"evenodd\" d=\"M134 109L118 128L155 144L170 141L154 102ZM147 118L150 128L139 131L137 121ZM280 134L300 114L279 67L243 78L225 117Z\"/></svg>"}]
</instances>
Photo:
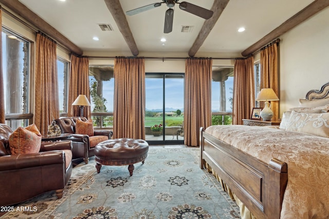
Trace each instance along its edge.
<instances>
[{"instance_id":1,"label":"brown curtain in left corner behind the lit table lamp","mask_svg":"<svg viewBox=\"0 0 329 219\"><path fill-rule=\"evenodd\" d=\"M72 106L79 94L87 96L90 102L89 90L89 58L71 55L71 70L68 87L68 116L78 116L78 106ZM90 107L85 106L83 116L90 118Z\"/></svg>"}]
</instances>

